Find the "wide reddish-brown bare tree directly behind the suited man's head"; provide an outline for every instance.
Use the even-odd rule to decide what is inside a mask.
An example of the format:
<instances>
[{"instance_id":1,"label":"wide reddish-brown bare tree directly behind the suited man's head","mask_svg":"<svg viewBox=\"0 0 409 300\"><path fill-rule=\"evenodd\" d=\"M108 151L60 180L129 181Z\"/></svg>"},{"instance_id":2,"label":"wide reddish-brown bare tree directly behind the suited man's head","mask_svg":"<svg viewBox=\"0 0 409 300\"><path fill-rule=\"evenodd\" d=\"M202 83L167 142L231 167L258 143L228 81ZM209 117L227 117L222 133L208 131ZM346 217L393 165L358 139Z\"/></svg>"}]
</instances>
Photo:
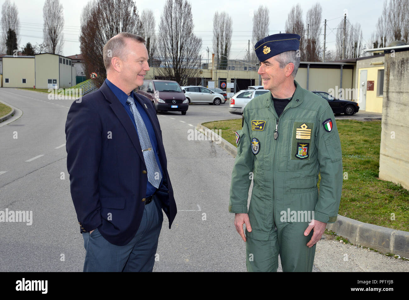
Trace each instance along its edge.
<instances>
[{"instance_id":1,"label":"wide reddish-brown bare tree directly behind the suited man's head","mask_svg":"<svg viewBox=\"0 0 409 300\"><path fill-rule=\"evenodd\" d=\"M103 20L103 22L101 22ZM141 22L133 0L94 0L81 13L80 50L87 76L97 73L99 85L106 78L102 49L110 38L120 32L141 35Z\"/></svg>"}]
</instances>

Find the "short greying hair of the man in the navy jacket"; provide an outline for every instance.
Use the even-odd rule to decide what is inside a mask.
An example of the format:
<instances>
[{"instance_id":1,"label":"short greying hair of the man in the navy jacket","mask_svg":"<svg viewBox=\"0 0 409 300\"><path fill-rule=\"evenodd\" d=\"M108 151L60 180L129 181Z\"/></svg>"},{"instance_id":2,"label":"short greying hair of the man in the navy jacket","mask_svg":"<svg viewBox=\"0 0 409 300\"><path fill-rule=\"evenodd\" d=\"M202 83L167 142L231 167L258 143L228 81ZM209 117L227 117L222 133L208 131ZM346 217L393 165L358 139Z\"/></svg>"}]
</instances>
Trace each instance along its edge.
<instances>
[{"instance_id":1,"label":"short greying hair of the man in the navy jacket","mask_svg":"<svg viewBox=\"0 0 409 300\"><path fill-rule=\"evenodd\" d=\"M111 65L113 57L119 57L121 60L126 60L128 56L128 49L126 48L126 38L135 40L139 43L145 44L144 38L129 32L121 32L112 37L103 47L103 64L108 70Z\"/></svg>"}]
</instances>

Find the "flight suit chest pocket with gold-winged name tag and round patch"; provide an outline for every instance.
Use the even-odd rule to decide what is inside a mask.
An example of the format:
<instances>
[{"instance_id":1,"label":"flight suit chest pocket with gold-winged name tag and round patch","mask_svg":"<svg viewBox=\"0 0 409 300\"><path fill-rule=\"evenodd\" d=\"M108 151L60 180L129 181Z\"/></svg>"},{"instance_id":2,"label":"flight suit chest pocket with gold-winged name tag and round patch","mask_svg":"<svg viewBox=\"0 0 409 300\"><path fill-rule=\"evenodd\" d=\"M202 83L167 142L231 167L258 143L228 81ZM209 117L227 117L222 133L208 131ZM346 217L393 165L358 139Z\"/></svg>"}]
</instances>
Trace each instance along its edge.
<instances>
[{"instance_id":1,"label":"flight suit chest pocket with gold-winged name tag and round patch","mask_svg":"<svg viewBox=\"0 0 409 300\"><path fill-rule=\"evenodd\" d=\"M254 169L269 170L271 158L272 120L262 117L251 119L249 128L250 147L254 155Z\"/></svg>"}]
</instances>

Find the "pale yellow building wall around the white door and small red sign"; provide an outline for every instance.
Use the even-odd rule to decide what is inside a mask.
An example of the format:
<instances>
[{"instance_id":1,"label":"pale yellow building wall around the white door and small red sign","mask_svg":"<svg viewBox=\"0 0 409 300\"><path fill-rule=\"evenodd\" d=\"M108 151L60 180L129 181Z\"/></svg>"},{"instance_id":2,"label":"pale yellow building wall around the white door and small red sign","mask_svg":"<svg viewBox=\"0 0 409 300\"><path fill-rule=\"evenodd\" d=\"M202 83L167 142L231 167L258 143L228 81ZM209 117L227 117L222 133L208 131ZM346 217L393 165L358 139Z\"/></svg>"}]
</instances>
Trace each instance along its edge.
<instances>
[{"instance_id":1,"label":"pale yellow building wall around the white door and small red sign","mask_svg":"<svg viewBox=\"0 0 409 300\"><path fill-rule=\"evenodd\" d=\"M382 101L383 96L378 96L378 70L384 69L384 56L375 56L364 60L357 60L356 65L356 78L355 87L357 88L358 102L360 101L360 88L361 85L361 71L367 70L366 81L373 81L373 91L366 91L366 107L365 111L382 113ZM376 64L373 64L376 63ZM385 88L385 87L384 87ZM381 93L382 94L382 93Z\"/></svg>"}]
</instances>

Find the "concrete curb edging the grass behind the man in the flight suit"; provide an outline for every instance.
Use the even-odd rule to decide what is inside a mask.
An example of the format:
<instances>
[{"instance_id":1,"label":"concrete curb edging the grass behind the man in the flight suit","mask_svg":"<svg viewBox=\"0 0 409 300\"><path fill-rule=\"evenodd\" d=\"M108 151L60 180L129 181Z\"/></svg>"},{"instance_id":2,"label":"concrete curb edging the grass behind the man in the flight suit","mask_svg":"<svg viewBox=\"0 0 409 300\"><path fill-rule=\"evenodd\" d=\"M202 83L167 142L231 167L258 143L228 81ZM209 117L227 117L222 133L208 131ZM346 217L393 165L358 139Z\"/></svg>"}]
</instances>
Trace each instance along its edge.
<instances>
[{"instance_id":1,"label":"concrete curb edging the grass behind the man in the flight suit","mask_svg":"<svg viewBox=\"0 0 409 300\"><path fill-rule=\"evenodd\" d=\"M198 124L197 128L209 139L220 140L220 146L229 152L231 156L237 156L237 148L227 140L202 124ZM339 236L347 238L353 244L373 248L382 253L393 253L409 258L409 232L407 231L364 223L340 215L338 215L335 223L327 224L326 228L338 233Z\"/></svg>"}]
</instances>

